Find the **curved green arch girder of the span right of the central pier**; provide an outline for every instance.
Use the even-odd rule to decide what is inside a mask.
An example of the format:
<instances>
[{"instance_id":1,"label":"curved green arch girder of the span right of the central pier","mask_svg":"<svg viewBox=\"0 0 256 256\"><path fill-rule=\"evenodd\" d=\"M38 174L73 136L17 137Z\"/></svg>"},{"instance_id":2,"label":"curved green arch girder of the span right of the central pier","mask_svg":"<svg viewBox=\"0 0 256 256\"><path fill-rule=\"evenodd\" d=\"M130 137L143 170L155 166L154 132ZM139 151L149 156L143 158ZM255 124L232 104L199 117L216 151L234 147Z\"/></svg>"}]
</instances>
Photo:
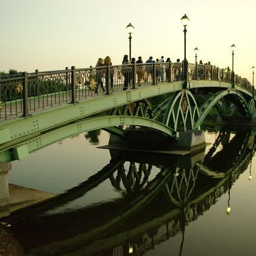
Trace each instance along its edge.
<instances>
[{"instance_id":1,"label":"curved green arch girder of the span right of the central pier","mask_svg":"<svg viewBox=\"0 0 256 256\"><path fill-rule=\"evenodd\" d=\"M213 94L212 97L210 97L207 101L204 102L204 104L199 109L199 118L197 119L196 123L194 124L194 129L197 129L198 127L200 127L202 122L204 121L205 117L210 112L210 110L214 107L214 105L220 99L224 98L226 95L229 95L229 94L235 94L242 99L243 104L246 108L246 112L249 114L249 117L251 118L250 108L249 108L249 105L247 104L244 96L237 90L228 89L228 90L224 90L224 91L218 91L218 93Z\"/></svg>"}]
</instances>

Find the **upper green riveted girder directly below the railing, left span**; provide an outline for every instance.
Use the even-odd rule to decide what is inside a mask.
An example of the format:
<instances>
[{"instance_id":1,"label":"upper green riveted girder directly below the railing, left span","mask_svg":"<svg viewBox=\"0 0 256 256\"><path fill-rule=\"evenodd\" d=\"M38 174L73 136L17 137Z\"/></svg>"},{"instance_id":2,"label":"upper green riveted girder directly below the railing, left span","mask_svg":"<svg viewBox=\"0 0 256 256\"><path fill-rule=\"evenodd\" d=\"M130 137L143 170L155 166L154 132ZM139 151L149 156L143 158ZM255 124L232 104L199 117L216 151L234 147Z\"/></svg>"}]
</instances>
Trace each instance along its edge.
<instances>
[{"instance_id":1,"label":"upper green riveted girder directly below the railing, left span","mask_svg":"<svg viewBox=\"0 0 256 256\"><path fill-rule=\"evenodd\" d=\"M34 113L26 118L17 118L5 121L0 124L0 129L9 129L10 141L18 142L54 127L68 124L86 116L95 113L104 112L105 110L125 105L130 102L139 101L145 98L151 98L160 94L169 93L182 89L182 82L162 83L158 86L141 87L135 90L120 91L108 96L91 98L85 101L69 104L57 108L44 110L43 112ZM0 139L1 141L1 139Z\"/></svg>"}]
</instances>

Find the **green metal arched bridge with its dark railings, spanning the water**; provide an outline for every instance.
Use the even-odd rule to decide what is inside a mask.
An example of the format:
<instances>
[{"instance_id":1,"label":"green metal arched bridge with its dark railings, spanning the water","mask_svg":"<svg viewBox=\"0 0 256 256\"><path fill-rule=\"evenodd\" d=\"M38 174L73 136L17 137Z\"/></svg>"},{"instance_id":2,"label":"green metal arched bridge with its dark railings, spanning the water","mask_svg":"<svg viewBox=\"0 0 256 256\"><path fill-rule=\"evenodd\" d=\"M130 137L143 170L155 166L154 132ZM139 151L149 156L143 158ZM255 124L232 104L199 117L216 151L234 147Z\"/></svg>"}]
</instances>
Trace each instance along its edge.
<instances>
[{"instance_id":1,"label":"green metal arched bridge with its dark railings, spanning the water","mask_svg":"<svg viewBox=\"0 0 256 256\"><path fill-rule=\"evenodd\" d=\"M152 104L156 96L161 102ZM124 137L123 126L147 127L179 141L212 108L223 119L252 120L256 111L247 79L197 63L187 71L168 62L25 72L1 78L0 98L1 162L95 129Z\"/></svg>"}]
</instances>

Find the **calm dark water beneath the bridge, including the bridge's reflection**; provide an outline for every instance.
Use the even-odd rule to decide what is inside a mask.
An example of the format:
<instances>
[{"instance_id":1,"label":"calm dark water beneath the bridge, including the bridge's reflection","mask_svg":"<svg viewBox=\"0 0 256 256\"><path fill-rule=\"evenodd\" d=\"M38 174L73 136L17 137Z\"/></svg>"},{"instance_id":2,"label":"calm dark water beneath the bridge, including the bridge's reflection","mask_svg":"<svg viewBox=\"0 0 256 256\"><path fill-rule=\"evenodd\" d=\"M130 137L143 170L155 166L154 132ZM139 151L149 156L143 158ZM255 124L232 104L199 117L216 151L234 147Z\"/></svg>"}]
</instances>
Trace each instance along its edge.
<instances>
[{"instance_id":1,"label":"calm dark water beneath the bridge, including the bridge's reflection","mask_svg":"<svg viewBox=\"0 0 256 256\"><path fill-rule=\"evenodd\" d=\"M255 255L255 135L206 131L185 157L68 138L13 162L10 183L62 195L7 221L28 255Z\"/></svg>"}]
</instances>

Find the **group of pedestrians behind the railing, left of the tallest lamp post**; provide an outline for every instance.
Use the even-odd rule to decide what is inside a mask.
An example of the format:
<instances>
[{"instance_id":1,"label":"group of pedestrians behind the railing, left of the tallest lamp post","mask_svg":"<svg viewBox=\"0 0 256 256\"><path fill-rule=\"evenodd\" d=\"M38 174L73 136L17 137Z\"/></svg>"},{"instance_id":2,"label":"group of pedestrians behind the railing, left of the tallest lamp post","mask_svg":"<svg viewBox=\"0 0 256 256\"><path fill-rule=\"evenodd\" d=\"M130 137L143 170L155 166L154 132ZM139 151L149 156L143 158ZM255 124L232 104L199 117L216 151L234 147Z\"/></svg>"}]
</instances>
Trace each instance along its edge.
<instances>
[{"instance_id":1,"label":"group of pedestrians behind the railing, left of the tallest lamp post","mask_svg":"<svg viewBox=\"0 0 256 256\"><path fill-rule=\"evenodd\" d=\"M143 60L142 57L139 56L138 60L136 60L135 58L132 58L129 61L129 56L126 54L123 57L123 62L122 65L129 65L129 64L138 64L137 68L136 68L136 74L137 74L137 82L138 82L138 86L141 86L141 82L142 80L148 80L149 76L151 76L151 79L154 79L154 74L153 74L153 66L152 65L146 65L143 66L141 64L143 64ZM165 63L165 62L171 62L170 58L167 58L166 61L164 60L164 57L161 56L160 59L156 59L153 60L153 57L150 56L148 60L146 60L146 63ZM101 87L102 93L105 92L105 88L103 86L103 79L105 76L105 66L112 66L112 61L111 58L109 56L106 56L105 59L99 58L98 62L96 63L96 88L95 88L95 93L98 93L99 87ZM101 68L102 67L102 68ZM168 67L166 66L166 80L169 80L169 70ZM156 68L156 81L157 82L164 82L164 73L165 73L165 69L163 65L158 65ZM123 67L122 68L122 75L124 77L124 86L123 86L123 90L127 90L129 85L132 84L133 82L133 75L132 75L132 68L130 68L130 66ZM113 79L113 72L110 72L110 88L113 91L114 90L114 79Z\"/></svg>"}]
</instances>

